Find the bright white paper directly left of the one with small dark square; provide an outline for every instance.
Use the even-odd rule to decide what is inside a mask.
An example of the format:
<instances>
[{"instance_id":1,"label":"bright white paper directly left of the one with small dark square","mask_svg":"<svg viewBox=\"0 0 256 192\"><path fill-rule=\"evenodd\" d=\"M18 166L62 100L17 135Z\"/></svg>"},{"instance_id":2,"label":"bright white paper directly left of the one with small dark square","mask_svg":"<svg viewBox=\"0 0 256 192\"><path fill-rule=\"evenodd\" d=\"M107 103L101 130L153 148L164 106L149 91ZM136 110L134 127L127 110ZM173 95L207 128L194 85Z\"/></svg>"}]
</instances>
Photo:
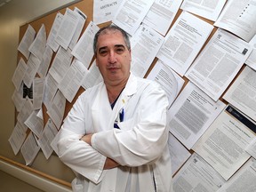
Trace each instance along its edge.
<instances>
[{"instance_id":1,"label":"bright white paper directly left of the one with small dark square","mask_svg":"<svg viewBox=\"0 0 256 192\"><path fill-rule=\"evenodd\" d=\"M181 12L156 57L184 76L211 34L213 26L189 12Z\"/></svg>"}]
</instances>

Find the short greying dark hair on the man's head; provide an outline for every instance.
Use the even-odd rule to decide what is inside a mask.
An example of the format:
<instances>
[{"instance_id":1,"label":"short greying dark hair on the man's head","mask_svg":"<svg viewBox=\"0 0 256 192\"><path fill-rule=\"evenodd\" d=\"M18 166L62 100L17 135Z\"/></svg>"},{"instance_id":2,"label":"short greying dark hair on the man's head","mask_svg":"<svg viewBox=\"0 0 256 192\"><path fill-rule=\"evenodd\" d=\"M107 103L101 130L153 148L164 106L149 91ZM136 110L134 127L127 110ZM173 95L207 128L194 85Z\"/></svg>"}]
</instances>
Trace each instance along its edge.
<instances>
[{"instance_id":1,"label":"short greying dark hair on the man's head","mask_svg":"<svg viewBox=\"0 0 256 192\"><path fill-rule=\"evenodd\" d=\"M104 32L107 31L115 31L118 30L122 33L122 35L124 36L124 43L127 47L128 50L131 50L131 43L130 43L130 38L129 35L122 29L117 27L116 25L108 25L106 27L100 28L100 30L95 34L94 36L94 40L93 40L93 52L96 55L97 53L97 43L98 43L98 38L100 36L100 34L104 34Z\"/></svg>"}]
</instances>

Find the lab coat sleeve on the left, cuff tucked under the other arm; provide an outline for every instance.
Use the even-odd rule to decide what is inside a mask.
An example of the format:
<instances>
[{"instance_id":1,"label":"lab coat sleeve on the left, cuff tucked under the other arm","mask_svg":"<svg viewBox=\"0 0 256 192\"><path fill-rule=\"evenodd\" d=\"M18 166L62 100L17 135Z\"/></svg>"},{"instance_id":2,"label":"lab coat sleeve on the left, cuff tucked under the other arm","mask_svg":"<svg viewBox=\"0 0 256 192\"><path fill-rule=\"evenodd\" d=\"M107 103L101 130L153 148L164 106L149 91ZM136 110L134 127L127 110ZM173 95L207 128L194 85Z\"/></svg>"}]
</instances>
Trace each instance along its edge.
<instances>
[{"instance_id":1,"label":"lab coat sleeve on the left, cuff tucked under the other arm","mask_svg":"<svg viewBox=\"0 0 256 192\"><path fill-rule=\"evenodd\" d=\"M58 133L57 154L72 170L94 183L99 183L104 175L106 156L79 140L86 132L83 100L83 97L76 100Z\"/></svg>"}]
</instances>

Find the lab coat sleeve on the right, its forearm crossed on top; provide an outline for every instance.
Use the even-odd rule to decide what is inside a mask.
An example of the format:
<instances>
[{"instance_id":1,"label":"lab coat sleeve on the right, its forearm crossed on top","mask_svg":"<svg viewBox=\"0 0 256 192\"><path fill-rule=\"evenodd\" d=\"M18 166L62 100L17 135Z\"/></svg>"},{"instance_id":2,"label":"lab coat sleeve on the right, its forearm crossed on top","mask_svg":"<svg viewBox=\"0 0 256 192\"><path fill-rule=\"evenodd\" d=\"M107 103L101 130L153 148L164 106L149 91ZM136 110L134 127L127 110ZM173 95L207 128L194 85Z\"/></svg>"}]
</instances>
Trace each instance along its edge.
<instances>
[{"instance_id":1,"label":"lab coat sleeve on the right, its forearm crossed on top","mask_svg":"<svg viewBox=\"0 0 256 192\"><path fill-rule=\"evenodd\" d=\"M120 130L93 134L92 148L127 166L150 164L162 156L168 140L168 99L165 92L155 86L149 86L141 94L137 111L131 119L118 124Z\"/></svg>"}]
</instances>

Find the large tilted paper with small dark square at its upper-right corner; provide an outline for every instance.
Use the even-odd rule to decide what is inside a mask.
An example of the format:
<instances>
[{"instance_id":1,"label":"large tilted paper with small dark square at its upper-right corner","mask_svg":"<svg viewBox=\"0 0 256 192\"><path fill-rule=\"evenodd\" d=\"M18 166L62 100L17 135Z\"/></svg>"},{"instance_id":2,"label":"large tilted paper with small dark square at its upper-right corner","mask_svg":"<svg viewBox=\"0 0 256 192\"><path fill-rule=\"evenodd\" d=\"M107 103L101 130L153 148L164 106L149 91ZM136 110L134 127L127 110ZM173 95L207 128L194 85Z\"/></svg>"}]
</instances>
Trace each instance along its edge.
<instances>
[{"instance_id":1,"label":"large tilted paper with small dark square at its upper-right corner","mask_svg":"<svg viewBox=\"0 0 256 192\"><path fill-rule=\"evenodd\" d=\"M219 28L185 76L218 100L251 52L250 44Z\"/></svg>"}]
</instances>

